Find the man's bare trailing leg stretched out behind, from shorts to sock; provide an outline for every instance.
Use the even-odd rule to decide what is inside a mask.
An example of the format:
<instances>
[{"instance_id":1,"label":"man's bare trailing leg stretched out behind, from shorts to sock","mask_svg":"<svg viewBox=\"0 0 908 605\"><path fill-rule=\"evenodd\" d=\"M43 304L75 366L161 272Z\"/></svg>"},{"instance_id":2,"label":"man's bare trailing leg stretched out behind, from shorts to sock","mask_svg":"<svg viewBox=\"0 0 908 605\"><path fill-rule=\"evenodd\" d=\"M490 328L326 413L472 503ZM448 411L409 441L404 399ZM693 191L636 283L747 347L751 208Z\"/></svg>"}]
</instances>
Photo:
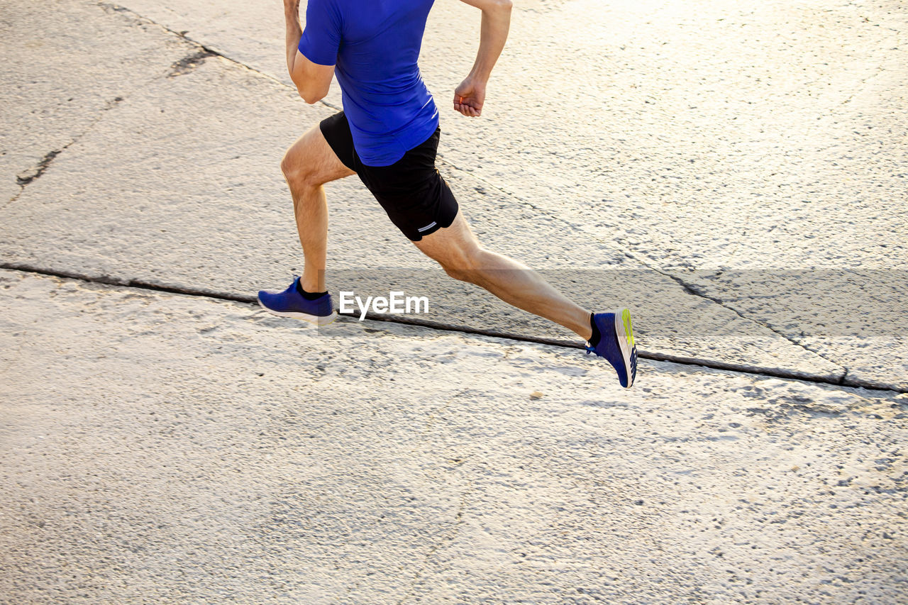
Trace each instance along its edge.
<instances>
[{"instance_id":1,"label":"man's bare trailing leg stretched out behind, from shorts to sock","mask_svg":"<svg viewBox=\"0 0 908 605\"><path fill-rule=\"evenodd\" d=\"M479 245L463 214L454 222L414 242L451 277L475 283L519 309L559 323L588 341L589 311L570 301L526 265Z\"/></svg>"}]
</instances>

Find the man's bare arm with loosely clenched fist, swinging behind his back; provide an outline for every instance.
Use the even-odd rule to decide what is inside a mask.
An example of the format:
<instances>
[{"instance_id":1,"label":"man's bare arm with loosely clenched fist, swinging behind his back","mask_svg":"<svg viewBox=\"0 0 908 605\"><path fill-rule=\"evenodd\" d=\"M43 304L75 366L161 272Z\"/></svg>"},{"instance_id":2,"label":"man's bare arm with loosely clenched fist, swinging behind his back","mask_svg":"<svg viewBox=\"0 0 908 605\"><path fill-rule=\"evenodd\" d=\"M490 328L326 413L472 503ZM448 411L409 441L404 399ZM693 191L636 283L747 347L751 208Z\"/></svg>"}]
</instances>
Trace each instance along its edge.
<instances>
[{"instance_id":1,"label":"man's bare arm with loosely clenched fist, swinging behind his back","mask_svg":"<svg viewBox=\"0 0 908 605\"><path fill-rule=\"evenodd\" d=\"M479 52L473 69L454 91L454 109L461 114L477 117L486 99L486 84L492 67L505 47L510 29L511 0L461 0L482 11Z\"/></svg>"}]
</instances>

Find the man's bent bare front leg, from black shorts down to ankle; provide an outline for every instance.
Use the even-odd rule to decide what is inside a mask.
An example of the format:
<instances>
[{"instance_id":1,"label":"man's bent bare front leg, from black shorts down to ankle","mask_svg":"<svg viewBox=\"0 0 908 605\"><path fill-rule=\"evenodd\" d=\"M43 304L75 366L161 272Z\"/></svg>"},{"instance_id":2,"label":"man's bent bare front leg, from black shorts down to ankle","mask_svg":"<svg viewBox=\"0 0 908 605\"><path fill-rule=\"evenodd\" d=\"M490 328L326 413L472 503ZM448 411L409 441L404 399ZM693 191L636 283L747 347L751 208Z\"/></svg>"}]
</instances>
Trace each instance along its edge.
<instances>
[{"instance_id":1,"label":"man's bent bare front leg, from black shorts down to ankle","mask_svg":"<svg viewBox=\"0 0 908 605\"><path fill-rule=\"evenodd\" d=\"M281 171L293 196L293 214L305 257L301 284L306 292L325 292L328 205L324 183L355 174L341 163L318 125L303 134L284 154Z\"/></svg>"}]
</instances>

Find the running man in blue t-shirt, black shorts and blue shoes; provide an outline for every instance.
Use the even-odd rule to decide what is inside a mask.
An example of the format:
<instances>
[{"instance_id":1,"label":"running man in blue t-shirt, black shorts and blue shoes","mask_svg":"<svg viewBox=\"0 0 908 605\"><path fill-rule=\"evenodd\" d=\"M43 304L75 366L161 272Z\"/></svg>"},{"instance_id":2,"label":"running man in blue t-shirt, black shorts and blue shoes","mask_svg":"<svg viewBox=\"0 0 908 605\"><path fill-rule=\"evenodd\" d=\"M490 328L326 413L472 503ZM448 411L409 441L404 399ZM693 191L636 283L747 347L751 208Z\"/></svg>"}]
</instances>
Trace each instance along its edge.
<instances>
[{"instance_id":1,"label":"running man in blue t-shirt, black shorts and blue shoes","mask_svg":"<svg viewBox=\"0 0 908 605\"><path fill-rule=\"evenodd\" d=\"M322 185L357 174L394 223L454 279L474 283L524 311L559 323L605 357L621 386L637 376L630 312L591 313L538 273L483 248L435 167L439 110L417 60L434 0L284 0L287 68L306 103L320 101L337 75L343 109L287 150L290 186L305 258L284 291L259 293L266 310L319 324L334 320L325 287L328 207ZM492 67L508 38L510 0L462 0L482 12L476 63L454 91L454 110L479 117Z\"/></svg>"}]
</instances>

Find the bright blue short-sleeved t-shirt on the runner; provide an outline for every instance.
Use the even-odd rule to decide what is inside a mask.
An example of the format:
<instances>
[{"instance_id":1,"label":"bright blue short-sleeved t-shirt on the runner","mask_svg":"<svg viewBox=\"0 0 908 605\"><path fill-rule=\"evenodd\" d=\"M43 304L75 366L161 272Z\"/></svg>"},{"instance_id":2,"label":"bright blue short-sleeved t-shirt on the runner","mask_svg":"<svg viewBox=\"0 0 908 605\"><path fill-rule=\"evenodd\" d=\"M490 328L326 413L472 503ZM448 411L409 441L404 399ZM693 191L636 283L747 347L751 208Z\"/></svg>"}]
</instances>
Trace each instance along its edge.
<instances>
[{"instance_id":1,"label":"bright blue short-sleeved t-shirt on the runner","mask_svg":"<svg viewBox=\"0 0 908 605\"><path fill-rule=\"evenodd\" d=\"M388 166L439 126L419 75L419 48L434 0L309 0L300 52L336 65L343 110L363 164Z\"/></svg>"}]
</instances>

